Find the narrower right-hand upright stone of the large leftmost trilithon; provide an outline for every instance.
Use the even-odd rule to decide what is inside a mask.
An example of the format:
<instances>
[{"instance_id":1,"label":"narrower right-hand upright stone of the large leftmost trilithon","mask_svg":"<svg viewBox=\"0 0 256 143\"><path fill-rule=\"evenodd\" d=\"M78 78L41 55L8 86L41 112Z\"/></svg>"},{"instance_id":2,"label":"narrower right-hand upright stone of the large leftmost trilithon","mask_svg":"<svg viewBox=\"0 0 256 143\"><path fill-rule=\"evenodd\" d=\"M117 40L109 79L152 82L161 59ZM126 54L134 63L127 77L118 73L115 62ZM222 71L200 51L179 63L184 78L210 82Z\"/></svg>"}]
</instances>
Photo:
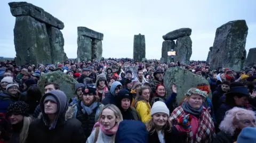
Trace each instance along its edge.
<instances>
[{"instance_id":1,"label":"narrower right-hand upright stone of the large leftmost trilithon","mask_svg":"<svg viewBox=\"0 0 256 143\"><path fill-rule=\"evenodd\" d=\"M64 52L64 38L62 32L55 27L47 27L47 33L50 39L52 64L64 62L68 59Z\"/></svg>"}]
</instances>

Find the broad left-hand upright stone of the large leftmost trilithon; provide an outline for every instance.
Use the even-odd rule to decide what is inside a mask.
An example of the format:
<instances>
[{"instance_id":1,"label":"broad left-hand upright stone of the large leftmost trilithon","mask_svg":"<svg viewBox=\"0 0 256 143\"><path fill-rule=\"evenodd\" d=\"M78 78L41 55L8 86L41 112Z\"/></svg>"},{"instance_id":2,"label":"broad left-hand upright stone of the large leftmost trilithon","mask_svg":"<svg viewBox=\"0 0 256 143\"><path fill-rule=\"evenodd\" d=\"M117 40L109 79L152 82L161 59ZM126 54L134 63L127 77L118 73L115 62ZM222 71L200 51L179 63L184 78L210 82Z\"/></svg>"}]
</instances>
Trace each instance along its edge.
<instances>
[{"instance_id":1,"label":"broad left-hand upright stone of the large leftmost trilithon","mask_svg":"<svg viewBox=\"0 0 256 143\"><path fill-rule=\"evenodd\" d=\"M44 23L30 16L18 16L13 31L18 65L51 64L51 47Z\"/></svg>"}]
</instances>

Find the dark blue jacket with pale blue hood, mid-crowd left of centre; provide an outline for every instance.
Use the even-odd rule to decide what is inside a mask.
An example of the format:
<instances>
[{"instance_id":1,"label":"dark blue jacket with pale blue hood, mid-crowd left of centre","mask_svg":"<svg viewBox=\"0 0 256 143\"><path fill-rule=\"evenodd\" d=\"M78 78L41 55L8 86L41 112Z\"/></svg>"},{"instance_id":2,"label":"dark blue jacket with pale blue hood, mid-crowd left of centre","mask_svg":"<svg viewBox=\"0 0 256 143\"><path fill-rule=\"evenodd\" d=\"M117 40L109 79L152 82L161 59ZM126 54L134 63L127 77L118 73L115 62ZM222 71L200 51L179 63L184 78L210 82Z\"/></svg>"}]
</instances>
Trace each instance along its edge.
<instances>
[{"instance_id":1,"label":"dark blue jacket with pale blue hood, mid-crowd left of centre","mask_svg":"<svg viewBox=\"0 0 256 143\"><path fill-rule=\"evenodd\" d=\"M107 104L116 105L115 89L116 89L117 86L122 86L122 84L119 81L114 81L111 85L110 91L108 91L105 94L105 98L102 100L101 104L103 104L103 105L107 105Z\"/></svg>"}]
</instances>

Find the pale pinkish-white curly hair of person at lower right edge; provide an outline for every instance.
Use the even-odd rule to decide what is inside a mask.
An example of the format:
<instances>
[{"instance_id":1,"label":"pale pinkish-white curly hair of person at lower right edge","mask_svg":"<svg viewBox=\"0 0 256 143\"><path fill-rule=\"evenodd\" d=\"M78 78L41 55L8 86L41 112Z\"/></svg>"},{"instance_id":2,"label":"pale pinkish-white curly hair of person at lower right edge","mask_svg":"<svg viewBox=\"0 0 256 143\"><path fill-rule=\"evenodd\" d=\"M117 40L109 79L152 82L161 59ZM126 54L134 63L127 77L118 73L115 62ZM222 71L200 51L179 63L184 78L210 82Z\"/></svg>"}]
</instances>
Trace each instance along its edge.
<instances>
[{"instance_id":1,"label":"pale pinkish-white curly hair of person at lower right edge","mask_svg":"<svg viewBox=\"0 0 256 143\"><path fill-rule=\"evenodd\" d=\"M236 127L234 126L236 122L240 121L241 116L251 115L255 120L255 113L244 108L234 107L226 112L226 116L220 123L219 129L225 133L229 133L231 136L234 135Z\"/></svg>"}]
</instances>

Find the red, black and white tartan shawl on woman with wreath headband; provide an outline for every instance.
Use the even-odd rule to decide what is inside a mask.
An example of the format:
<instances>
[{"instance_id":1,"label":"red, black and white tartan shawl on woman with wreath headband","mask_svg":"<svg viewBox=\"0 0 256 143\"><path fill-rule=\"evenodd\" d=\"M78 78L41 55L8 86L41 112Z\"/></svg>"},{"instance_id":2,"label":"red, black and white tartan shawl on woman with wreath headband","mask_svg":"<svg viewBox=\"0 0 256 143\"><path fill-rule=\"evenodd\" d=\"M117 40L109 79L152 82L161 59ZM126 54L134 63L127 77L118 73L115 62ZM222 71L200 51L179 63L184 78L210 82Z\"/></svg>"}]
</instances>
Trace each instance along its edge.
<instances>
[{"instance_id":1,"label":"red, black and white tartan shawl on woman with wreath headband","mask_svg":"<svg viewBox=\"0 0 256 143\"><path fill-rule=\"evenodd\" d=\"M186 113L181 106L175 108L170 116L170 120L177 124L177 120L185 116ZM193 132L190 130L187 134L188 143L211 143L215 136L214 123L212 121L211 115L203 108L203 111L199 118L199 127L197 129L195 140L193 139Z\"/></svg>"}]
</instances>

